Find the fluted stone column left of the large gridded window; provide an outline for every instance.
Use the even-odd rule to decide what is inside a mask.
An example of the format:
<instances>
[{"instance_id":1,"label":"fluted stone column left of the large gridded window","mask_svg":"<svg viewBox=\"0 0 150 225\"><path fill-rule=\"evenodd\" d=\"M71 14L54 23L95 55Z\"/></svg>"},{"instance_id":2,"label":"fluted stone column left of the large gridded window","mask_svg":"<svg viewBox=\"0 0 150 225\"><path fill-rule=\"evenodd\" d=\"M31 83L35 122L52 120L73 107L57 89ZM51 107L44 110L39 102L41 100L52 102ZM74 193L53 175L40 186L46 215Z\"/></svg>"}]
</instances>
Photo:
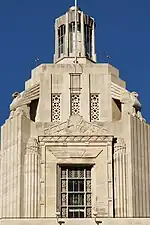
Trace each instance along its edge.
<instances>
[{"instance_id":1,"label":"fluted stone column left of the large gridded window","mask_svg":"<svg viewBox=\"0 0 150 225\"><path fill-rule=\"evenodd\" d=\"M40 208L40 154L35 138L27 143L24 166L24 216L34 218Z\"/></svg>"}]
</instances>

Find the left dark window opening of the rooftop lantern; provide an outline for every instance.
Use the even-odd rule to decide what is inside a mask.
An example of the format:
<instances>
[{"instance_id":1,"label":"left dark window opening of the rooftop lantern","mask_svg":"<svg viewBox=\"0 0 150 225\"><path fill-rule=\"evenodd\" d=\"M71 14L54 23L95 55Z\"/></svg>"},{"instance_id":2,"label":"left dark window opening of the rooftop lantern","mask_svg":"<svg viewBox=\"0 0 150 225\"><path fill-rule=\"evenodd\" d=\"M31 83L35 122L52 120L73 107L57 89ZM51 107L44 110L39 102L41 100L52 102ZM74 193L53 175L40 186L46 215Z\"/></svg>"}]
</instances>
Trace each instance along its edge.
<instances>
[{"instance_id":1,"label":"left dark window opening of the rooftop lantern","mask_svg":"<svg viewBox=\"0 0 150 225\"><path fill-rule=\"evenodd\" d=\"M58 57L65 52L65 34L66 27L63 24L58 28Z\"/></svg>"}]
</instances>

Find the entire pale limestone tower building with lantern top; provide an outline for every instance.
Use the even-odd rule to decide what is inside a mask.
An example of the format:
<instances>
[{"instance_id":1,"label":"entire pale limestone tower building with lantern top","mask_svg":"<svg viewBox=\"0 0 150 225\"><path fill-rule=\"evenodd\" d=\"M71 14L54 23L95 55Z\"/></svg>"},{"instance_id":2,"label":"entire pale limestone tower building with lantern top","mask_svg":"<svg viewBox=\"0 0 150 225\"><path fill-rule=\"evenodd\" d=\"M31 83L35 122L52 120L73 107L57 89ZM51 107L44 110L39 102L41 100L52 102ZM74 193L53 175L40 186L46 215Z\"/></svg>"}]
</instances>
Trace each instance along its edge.
<instances>
[{"instance_id":1,"label":"entire pale limestone tower building with lantern top","mask_svg":"<svg viewBox=\"0 0 150 225\"><path fill-rule=\"evenodd\" d=\"M96 62L95 21L79 8L77 33L71 7L55 41L54 63L32 70L1 129L1 223L150 224L140 219L150 217L150 128L138 94Z\"/></svg>"}]
</instances>

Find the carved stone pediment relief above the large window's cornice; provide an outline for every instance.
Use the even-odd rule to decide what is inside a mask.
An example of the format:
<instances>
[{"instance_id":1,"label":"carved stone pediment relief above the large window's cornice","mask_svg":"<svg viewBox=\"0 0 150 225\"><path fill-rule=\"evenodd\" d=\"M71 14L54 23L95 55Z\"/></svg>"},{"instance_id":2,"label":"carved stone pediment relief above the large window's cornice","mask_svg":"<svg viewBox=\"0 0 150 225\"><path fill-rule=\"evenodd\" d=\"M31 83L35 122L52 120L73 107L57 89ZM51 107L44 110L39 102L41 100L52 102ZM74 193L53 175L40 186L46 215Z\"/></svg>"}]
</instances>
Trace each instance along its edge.
<instances>
[{"instance_id":1,"label":"carved stone pediment relief above the large window's cornice","mask_svg":"<svg viewBox=\"0 0 150 225\"><path fill-rule=\"evenodd\" d=\"M44 135L99 135L106 132L102 125L92 124L79 115L72 115L64 123L45 128Z\"/></svg>"}]
</instances>

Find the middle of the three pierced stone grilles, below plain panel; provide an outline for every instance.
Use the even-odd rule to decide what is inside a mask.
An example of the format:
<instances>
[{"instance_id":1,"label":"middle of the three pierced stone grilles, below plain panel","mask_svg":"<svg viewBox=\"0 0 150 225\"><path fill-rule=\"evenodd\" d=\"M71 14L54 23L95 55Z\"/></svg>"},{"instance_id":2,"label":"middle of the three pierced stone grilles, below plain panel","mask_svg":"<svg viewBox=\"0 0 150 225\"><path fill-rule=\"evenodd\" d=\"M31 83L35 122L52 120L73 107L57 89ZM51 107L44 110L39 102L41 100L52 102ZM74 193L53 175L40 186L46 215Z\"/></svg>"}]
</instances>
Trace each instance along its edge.
<instances>
[{"instance_id":1,"label":"middle of the three pierced stone grilles, below plain panel","mask_svg":"<svg viewBox=\"0 0 150 225\"><path fill-rule=\"evenodd\" d=\"M80 94L71 94L71 114L80 114Z\"/></svg>"}]
</instances>

